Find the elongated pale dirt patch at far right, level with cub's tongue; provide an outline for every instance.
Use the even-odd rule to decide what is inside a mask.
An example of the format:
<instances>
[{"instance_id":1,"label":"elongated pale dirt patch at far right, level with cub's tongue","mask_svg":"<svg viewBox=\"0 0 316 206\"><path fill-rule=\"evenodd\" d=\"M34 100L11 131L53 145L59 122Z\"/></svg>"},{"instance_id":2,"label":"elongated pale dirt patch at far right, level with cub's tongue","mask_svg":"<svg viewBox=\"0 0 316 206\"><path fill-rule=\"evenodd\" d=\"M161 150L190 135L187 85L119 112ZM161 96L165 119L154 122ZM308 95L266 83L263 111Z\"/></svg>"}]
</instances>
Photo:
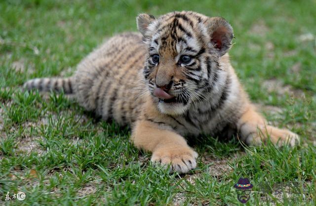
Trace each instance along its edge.
<instances>
[{"instance_id":1,"label":"elongated pale dirt patch at far right, level with cub's tongue","mask_svg":"<svg viewBox=\"0 0 316 206\"><path fill-rule=\"evenodd\" d=\"M278 95L289 94L296 98L304 98L305 93L300 89L295 89L291 85L284 85L279 80L266 80L263 83L263 88L265 88L268 92L276 92Z\"/></svg>"}]
</instances>

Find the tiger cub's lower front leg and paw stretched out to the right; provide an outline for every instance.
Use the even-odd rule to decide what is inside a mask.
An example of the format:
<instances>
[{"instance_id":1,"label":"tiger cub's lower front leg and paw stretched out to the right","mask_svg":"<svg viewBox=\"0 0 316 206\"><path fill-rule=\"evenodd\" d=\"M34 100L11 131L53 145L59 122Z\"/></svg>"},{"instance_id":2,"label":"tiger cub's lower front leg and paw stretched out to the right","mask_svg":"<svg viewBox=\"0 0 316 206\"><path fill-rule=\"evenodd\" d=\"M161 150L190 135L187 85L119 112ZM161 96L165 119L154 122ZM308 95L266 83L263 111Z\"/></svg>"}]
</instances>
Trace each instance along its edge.
<instances>
[{"instance_id":1,"label":"tiger cub's lower front leg and paw stretched out to the right","mask_svg":"<svg viewBox=\"0 0 316 206\"><path fill-rule=\"evenodd\" d=\"M294 146L299 142L299 136L287 129L279 129L267 124L267 121L258 114L254 106L249 105L237 123L241 140L249 145L261 145L270 137L272 143L281 146Z\"/></svg>"}]
</instances>

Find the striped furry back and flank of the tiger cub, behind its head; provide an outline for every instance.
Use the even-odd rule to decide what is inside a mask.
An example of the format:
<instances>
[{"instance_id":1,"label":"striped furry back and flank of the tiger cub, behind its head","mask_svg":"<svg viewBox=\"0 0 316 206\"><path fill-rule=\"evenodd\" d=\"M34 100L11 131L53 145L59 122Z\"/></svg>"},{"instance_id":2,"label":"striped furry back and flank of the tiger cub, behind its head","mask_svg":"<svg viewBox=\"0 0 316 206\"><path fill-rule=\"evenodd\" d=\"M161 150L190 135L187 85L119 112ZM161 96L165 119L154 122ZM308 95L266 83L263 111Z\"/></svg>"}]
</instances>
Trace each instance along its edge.
<instances>
[{"instance_id":1,"label":"striped furry back and flank of the tiger cub, behind its head","mask_svg":"<svg viewBox=\"0 0 316 206\"><path fill-rule=\"evenodd\" d=\"M79 63L74 76L79 104L104 120L134 122L143 103L140 73L146 54L137 33L114 36L94 50Z\"/></svg>"}]
</instances>

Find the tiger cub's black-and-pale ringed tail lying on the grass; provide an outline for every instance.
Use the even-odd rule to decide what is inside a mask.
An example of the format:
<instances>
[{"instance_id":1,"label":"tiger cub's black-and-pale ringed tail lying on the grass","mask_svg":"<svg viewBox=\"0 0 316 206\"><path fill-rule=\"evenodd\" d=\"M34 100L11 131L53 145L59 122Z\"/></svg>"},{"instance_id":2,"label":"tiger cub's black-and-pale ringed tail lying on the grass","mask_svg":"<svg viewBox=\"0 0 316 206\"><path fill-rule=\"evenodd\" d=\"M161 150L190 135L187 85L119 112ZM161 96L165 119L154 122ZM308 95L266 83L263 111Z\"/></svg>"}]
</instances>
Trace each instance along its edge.
<instances>
[{"instance_id":1,"label":"tiger cub's black-and-pale ringed tail lying on the grass","mask_svg":"<svg viewBox=\"0 0 316 206\"><path fill-rule=\"evenodd\" d=\"M24 83L23 88L26 90L39 89L40 91L57 91L64 90L65 94L74 93L73 78L37 78Z\"/></svg>"}]
</instances>

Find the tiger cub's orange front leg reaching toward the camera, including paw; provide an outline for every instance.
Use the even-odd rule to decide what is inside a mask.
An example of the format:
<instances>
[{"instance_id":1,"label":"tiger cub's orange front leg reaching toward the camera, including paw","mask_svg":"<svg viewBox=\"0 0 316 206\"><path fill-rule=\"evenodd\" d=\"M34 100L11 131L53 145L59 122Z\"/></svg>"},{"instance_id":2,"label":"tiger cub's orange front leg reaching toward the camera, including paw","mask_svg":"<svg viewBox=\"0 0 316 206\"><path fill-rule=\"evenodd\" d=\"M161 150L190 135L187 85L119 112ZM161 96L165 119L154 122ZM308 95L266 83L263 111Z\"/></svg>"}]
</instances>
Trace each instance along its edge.
<instances>
[{"instance_id":1,"label":"tiger cub's orange front leg reaching toward the camera, including paw","mask_svg":"<svg viewBox=\"0 0 316 206\"><path fill-rule=\"evenodd\" d=\"M156 123L137 121L131 140L136 147L153 153L152 162L171 164L171 170L185 173L197 166L197 153L188 146L186 140L174 131L160 128Z\"/></svg>"}]
</instances>

